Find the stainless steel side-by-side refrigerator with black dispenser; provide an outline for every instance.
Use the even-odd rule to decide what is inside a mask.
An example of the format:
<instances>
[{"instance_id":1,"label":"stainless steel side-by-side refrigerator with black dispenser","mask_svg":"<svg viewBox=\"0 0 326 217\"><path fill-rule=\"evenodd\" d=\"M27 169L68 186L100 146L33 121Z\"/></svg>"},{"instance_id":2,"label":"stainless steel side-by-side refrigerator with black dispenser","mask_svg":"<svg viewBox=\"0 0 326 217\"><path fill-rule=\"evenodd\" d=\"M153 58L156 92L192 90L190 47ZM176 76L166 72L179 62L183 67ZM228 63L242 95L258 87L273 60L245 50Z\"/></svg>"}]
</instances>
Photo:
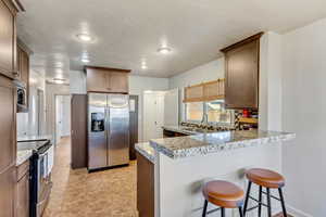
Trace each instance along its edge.
<instances>
[{"instance_id":1,"label":"stainless steel side-by-side refrigerator with black dispenser","mask_svg":"<svg viewBox=\"0 0 326 217\"><path fill-rule=\"evenodd\" d=\"M88 93L88 169L129 163L129 97Z\"/></svg>"}]
</instances>

